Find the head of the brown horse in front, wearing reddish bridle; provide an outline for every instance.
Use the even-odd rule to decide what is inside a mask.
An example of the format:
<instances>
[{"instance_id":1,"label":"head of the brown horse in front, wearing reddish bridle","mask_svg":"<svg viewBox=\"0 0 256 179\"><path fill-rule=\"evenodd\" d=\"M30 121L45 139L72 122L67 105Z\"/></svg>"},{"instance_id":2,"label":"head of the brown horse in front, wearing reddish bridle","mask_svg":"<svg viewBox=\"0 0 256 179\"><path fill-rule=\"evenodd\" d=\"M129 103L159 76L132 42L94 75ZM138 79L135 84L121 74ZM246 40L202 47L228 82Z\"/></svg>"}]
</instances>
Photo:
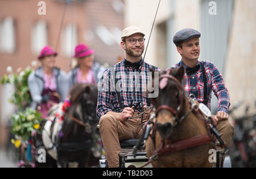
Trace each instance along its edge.
<instances>
[{"instance_id":1,"label":"head of the brown horse in front, wearing reddish bridle","mask_svg":"<svg viewBox=\"0 0 256 179\"><path fill-rule=\"evenodd\" d=\"M179 123L185 95L183 90L184 68L168 69L159 74L159 95L151 98L155 107L156 129L162 138L168 138L172 129Z\"/></svg>"}]
</instances>

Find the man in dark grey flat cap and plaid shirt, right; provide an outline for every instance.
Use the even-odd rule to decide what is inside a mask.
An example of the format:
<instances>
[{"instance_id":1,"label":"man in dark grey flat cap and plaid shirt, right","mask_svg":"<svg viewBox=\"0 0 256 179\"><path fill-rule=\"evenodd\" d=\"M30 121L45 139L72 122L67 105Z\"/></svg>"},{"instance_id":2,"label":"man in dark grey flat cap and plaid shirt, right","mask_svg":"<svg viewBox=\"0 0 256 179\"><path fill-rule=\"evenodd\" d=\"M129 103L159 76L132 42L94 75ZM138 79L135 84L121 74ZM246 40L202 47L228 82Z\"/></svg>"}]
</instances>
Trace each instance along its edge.
<instances>
[{"instance_id":1,"label":"man in dark grey flat cap and plaid shirt, right","mask_svg":"<svg viewBox=\"0 0 256 179\"><path fill-rule=\"evenodd\" d=\"M194 94L196 100L204 103L210 109L212 90L218 98L218 112L213 116L216 128L229 147L234 134L234 126L228 120L230 98L225 82L217 67L209 61L199 61L200 43L199 31L191 28L183 29L174 36L174 44L181 55L179 63L172 66L184 66L184 91L187 95Z\"/></svg>"}]
</instances>

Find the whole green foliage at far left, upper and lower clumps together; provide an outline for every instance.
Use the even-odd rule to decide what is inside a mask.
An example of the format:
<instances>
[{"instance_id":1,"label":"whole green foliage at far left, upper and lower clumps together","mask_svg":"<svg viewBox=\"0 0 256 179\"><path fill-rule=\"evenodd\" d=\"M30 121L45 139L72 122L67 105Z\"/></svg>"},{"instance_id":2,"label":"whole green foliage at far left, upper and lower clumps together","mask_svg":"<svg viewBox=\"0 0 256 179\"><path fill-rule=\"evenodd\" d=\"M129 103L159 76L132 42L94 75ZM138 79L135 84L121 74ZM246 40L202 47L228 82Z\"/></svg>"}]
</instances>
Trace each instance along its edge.
<instances>
[{"instance_id":1,"label":"whole green foliage at far left, upper and lower clumps together","mask_svg":"<svg viewBox=\"0 0 256 179\"><path fill-rule=\"evenodd\" d=\"M14 84L15 91L9 98L9 102L18 107L18 113L11 116L12 119L12 132L26 141L30 138L31 132L35 131L41 120L41 113L38 111L26 108L32 102L30 90L28 88L28 76L34 70L27 67L22 72L15 74L12 72L11 67L7 67L9 74L4 74L1 79L1 84Z\"/></svg>"}]
</instances>

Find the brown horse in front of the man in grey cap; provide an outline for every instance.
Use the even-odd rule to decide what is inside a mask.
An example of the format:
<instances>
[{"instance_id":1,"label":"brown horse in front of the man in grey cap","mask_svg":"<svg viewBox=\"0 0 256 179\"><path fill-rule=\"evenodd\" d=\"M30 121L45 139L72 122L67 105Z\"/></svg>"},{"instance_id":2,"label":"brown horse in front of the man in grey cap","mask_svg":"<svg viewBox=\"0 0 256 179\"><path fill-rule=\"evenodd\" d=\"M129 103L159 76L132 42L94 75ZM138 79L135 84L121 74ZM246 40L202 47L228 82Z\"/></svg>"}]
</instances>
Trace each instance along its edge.
<instances>
[{"instance_id":1,"label":"brown horse in front of the man in grey cap","mask_svg":"<svg viewBox=\"0 0 256 179\"><path fill-rule=\"evenodd\" d=\"M199 103L185 97L183 78L183 66L160 73L159 95L151 98L155 118L146 151L154 167L212 166L208 160L214 149L212 136L201 119L203 113L197 113Z\"/></svg>"}]
</instances>

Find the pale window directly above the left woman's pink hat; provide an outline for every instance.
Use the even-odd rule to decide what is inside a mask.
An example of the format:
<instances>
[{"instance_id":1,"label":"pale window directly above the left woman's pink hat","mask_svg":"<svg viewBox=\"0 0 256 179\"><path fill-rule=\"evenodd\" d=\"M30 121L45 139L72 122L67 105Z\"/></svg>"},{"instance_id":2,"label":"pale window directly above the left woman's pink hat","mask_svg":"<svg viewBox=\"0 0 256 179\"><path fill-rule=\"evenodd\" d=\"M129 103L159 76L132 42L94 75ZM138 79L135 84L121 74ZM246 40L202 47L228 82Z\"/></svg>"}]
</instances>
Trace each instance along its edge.
<instances>
[{"instance_id":1,"label":"pale window directly above the left woman's pink hat","mask_svg":"<svg viewBox=\"0 0 256 179\"><path fill-rule=\"evenodd\" d=\"M35 24L31 31L31 51L38 55L40 51L48 44L47 24L39 21Z\"/></svg>"}]
</instances>

